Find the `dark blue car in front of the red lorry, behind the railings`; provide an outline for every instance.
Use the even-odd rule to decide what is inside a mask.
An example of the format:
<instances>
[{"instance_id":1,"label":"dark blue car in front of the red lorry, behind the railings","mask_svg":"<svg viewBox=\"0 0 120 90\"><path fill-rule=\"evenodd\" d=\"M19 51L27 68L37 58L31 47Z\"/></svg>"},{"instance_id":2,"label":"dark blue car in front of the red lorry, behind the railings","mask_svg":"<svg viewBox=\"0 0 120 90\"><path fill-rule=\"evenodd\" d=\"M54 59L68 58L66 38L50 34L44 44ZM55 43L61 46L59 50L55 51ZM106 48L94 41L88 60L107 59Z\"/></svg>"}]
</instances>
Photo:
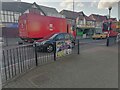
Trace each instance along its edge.
<instances>
[{"instance_id":1,"label":"dark blue car in front of the red lorry, behind the railings","mask_svg":"<svg viewBox=\"0 0 120 90\"><path fill-rule=\"evenodd\" d=\"M60 40L70 40L73 45L75 45L75 39L72 34L69 33L56 33L50 36L47 36L43 39L36 40L36 48L38 51L52 52L54 50L54 42Z\"/></svg>"}]
</instances>

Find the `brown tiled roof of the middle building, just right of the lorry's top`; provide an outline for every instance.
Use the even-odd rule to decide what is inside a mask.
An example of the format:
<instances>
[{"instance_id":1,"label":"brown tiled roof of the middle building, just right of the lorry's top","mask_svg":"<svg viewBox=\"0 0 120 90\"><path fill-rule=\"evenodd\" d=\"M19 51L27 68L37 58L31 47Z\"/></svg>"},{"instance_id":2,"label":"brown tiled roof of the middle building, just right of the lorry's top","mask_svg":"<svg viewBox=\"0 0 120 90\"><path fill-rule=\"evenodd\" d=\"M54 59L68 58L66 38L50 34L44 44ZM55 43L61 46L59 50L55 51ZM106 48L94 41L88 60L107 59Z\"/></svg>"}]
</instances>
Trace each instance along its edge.
<instances>
[{"instance_id":1,"label":"brown tiled roof of the middle building, just right of the lorry's top","mask_svg":"<svg viewBox=\"0 0 120 90\"><path fill-rule=\"evenodd\" d=\"M68 19L76 19L79 15L84 15L83 12L73 12L69 10L62 10L60 14L64 15Z\"/></svg>"}]
</instances>

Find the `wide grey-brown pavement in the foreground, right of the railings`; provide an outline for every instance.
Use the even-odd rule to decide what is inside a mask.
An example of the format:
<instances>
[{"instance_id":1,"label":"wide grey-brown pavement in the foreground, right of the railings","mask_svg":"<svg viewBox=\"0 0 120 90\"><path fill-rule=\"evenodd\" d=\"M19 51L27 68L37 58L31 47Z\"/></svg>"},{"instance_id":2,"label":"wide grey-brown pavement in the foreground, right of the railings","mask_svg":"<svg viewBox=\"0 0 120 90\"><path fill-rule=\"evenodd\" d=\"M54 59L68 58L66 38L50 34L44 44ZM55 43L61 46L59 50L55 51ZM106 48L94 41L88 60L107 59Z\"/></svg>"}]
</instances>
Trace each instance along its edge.
<instances>
[{"instance_id":1,"label":"wide grey-brown pavement in the foreground, right of the railings","mask_svg":"<svg viewBox=\"0 0 120 90\"><path fill-rule=\"evenodd\" d=\"M90 45L80 55L38 66L3 88L118 88L117 45Z\"/></svg>"}]
</instances>

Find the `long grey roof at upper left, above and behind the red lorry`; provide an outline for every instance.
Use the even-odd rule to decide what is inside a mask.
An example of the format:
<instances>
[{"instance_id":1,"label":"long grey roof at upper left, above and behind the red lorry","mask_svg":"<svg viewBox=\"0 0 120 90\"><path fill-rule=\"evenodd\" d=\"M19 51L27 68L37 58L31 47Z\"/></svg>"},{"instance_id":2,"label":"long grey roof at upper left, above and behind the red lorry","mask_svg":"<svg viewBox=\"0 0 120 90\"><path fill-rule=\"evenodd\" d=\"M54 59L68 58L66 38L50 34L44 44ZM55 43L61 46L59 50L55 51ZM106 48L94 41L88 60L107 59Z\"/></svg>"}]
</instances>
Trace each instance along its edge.
<instances>
[{"instance_id":1,"label":"long grey roof at upper left, above and behind the red lorry","mask_svg":"<svg viewBox=\"0 0 120 90\"><path fill-rule=\"evenodd\" d=\"M36 4L36 3L33 3L33 4ZM2 10L23 13L27 9L31 8L31 6L33 4L26 3L26 2L2 2ZM52 14L54 16L57 16L57 15L60 16L60 14L58 13L58 11L55 8L46 7L46 6L42 6L42 5L38 5L38 4L36 4L36 5L37 5L37 7L39 7L39 9L41 9L45 13L45 15L49 16Z\"/></svg>"}]
</instances>

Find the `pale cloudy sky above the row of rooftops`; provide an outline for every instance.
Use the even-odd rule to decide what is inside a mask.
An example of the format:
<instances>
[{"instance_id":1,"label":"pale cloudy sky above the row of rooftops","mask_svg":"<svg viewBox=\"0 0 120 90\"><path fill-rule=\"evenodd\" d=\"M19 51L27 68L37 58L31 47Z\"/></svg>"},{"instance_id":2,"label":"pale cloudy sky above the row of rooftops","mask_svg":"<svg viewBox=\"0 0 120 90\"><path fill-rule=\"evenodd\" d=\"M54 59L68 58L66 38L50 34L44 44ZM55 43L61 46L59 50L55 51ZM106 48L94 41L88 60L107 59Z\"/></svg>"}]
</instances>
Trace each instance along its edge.
<instances>
[{"instance_id":1,"label":"pale cloudy sky above the row of rooftops","mask_svg":"<svg viewBox=\"0 0 120 90\"><path fill-rule=\"evenodd\" d=\"M5 0L4 0L5 1ZM13 0L7 0L13 1ZM63 9L73 10L73 0L21 0L23 2L54 7L58 12ZM118 19L118 4L120 0L74 0L74 11L83 11L87 16L90 14L108 15L108 7L112 7L111 17Z\"/></svg>"}]
</instances>

